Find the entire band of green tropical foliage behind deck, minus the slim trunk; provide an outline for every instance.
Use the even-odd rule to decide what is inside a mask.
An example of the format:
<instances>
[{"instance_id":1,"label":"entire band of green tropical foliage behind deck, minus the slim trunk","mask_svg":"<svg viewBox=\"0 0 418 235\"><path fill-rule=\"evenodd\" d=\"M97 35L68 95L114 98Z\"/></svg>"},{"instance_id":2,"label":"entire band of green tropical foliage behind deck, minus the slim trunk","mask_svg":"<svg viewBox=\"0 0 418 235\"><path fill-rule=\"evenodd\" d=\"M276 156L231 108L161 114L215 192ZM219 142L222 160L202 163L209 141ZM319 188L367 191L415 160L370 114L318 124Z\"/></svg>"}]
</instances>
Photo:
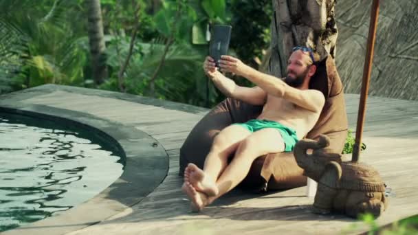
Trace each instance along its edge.
<instances>
[{"instance_id":1,"label":"entire band of green tropical foliage behind deck, minus the slim trunk","mask_svg":"<svg viewBox=\"0 0 418 235\"><path fill-rule=\"evenodd\" d=\"M0 93L46 83L94 87L86 2L0 0ZM270 42L270 1L100 4L109 76L98 89L212 107L224 97L201 69L210 25L231 24L230 53L254 67Z\"/></svg>"}]
</instances>

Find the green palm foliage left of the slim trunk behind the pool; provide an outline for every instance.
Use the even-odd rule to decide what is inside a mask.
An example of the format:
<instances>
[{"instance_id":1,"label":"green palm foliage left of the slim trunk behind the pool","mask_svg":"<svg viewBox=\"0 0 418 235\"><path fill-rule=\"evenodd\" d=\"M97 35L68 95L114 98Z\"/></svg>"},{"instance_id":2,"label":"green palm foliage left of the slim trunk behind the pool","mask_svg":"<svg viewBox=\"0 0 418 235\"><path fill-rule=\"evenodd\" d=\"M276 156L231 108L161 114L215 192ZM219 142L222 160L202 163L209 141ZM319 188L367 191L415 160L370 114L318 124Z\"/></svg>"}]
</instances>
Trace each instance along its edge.
<instances>
[{"instance_id":1,"label":"green palm foliage left of the slim trunk behind the pool","mask_svg":"<svg viewBox=\"0 0 418 235\"><path fill-rule=\"evenodd\" d=\"M87 36L73 1L0 1L1 92L45 83L83 85Z\"/></svg>"}]
</instances>

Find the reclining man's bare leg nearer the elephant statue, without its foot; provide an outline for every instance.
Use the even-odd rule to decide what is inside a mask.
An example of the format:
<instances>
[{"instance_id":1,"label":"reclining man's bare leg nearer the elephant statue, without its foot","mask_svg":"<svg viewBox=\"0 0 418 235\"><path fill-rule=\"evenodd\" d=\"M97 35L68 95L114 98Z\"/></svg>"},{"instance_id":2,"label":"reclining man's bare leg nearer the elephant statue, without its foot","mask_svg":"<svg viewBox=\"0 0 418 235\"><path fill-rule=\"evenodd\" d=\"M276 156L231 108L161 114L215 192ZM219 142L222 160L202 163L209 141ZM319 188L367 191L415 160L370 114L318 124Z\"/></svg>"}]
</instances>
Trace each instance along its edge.
<instances>
[{"instance_id":1,"label":"reclining man's bare leg nearer the elephant statue, without its foot","mask_svg":"<svg viewBox=\"0 0 418 235\"><path fill-rule=\"evenodd\" d=\"M277 129L264 128L252 133L239 144L234 159L232 159L217 180L218 194L215 197L211 197L209 201L221 197L221 195L229 192L243 181L257 157L268 153L283 152L284 150L285 143Z\"/></svg>"}]
</instances>

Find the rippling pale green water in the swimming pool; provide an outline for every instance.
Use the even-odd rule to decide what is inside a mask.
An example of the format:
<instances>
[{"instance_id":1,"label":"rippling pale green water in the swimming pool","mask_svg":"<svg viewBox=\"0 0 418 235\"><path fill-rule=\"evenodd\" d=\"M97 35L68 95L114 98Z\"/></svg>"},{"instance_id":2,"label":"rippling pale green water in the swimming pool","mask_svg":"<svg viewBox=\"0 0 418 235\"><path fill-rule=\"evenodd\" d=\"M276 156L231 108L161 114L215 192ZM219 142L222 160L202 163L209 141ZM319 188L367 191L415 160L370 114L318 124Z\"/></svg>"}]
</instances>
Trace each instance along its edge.
<instances>
[{"instance_id":1,"label":"rippling pale green water in the swimming pool","mask_svg":"<svg viewBox=\"0 0 418 235\"><path fill-rule=\"evenodd\" d=\"M0 232L60 214L122 174L112 144L68 127L0 113Z\"/></svg>"}]
</instances>

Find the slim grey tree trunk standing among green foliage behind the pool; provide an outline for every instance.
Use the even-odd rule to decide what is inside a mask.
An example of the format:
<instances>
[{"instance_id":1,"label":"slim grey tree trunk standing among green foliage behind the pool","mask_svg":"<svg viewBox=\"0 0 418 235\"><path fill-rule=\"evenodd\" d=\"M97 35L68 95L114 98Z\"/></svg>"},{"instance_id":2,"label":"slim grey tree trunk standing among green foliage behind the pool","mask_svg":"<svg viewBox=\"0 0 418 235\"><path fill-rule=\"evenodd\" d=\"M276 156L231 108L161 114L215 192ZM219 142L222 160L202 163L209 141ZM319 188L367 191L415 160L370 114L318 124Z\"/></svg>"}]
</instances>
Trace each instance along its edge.
<instances>
[{"instance_id":1,"label":"slim grey tree trunk standing among green foliage behind the pool","mask_svg":"<svg viewBox=\"0 0 418 235\"><path fill-rule=\"evenodd\" d=\"M100 9L100 0L87 0L86 3L93 80L94 85L97 86L103 82L104 78L107 78L102 10Z\"/></svg>"}]
</instances>

